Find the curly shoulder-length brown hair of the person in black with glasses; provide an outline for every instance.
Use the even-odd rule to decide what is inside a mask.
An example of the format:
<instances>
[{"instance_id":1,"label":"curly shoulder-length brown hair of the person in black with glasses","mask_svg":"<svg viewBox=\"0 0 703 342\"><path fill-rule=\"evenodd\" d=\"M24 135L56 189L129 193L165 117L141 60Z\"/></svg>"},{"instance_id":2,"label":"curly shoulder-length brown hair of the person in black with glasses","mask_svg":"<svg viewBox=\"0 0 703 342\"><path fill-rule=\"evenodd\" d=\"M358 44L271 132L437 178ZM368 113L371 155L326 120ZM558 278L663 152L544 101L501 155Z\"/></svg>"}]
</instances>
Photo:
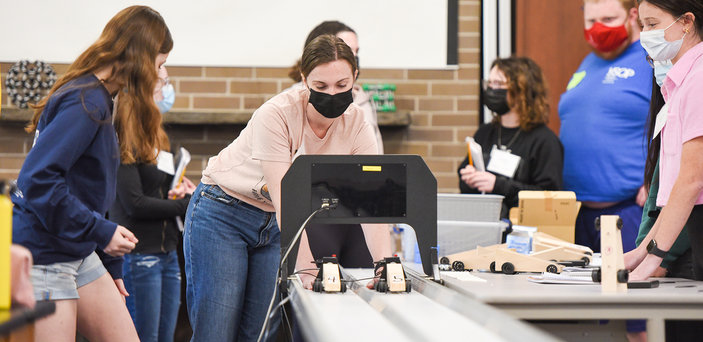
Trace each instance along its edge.
<instances>
[{"instance_id":1,"label":"curly shoulder-length brown hair of the person in black with glasses","mask_svg":"<svg viewBox=\"0 0 703 342\"><path fill-rule=\"evenodd\" d=\"M529 131L547 123L547 83L539 65L527 57L508 57L493 61L493 67L508 79L508 105L520 115L520 128Z\"/></svg>"}]
</instances>

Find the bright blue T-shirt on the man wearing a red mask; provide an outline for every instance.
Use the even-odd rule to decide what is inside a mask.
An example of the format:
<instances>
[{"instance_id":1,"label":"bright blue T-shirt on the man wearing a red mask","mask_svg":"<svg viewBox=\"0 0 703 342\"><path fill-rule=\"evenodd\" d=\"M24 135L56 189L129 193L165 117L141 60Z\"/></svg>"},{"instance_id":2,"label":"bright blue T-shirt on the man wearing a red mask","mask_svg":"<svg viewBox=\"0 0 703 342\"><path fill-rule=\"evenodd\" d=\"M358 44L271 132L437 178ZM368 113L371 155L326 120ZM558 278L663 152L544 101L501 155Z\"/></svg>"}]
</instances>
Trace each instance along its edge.
<instances>
[{"instance_id":1,"label":"bright blue T-shirt on the man wearing a red mask","mask_svg":"<svg viewBox=\"0 0 703 342\"><path fill-rule=\"evenodd\" d=\"M559 101L564 189L581 201L618 202L642 186L652 68L639 41L583 60Z\"/></svg>"}]
</instances>

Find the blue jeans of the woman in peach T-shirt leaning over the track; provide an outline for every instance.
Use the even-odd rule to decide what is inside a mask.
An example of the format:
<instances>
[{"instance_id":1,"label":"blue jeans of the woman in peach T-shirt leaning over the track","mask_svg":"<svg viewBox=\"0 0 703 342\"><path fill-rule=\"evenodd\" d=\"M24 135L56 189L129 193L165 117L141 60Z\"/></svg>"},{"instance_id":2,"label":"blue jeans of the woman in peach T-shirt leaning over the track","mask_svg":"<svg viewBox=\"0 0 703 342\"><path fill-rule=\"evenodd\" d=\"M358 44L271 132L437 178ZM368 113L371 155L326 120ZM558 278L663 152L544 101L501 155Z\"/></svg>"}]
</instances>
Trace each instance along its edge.
<instances>
[{"instance_id":1,"label":"blue jeans of the woman in peach T-shirt leaning over the track","mask_svg":"<svg viewBox=\"0 0 703 342\"><path fill-rule=\"evenodd\" d=\"M201 183L188 204L183 250L192 341L256 341L276 289L275 213ZM275 338L278 315L271 322Z\"/></svg>"}]
</instances>

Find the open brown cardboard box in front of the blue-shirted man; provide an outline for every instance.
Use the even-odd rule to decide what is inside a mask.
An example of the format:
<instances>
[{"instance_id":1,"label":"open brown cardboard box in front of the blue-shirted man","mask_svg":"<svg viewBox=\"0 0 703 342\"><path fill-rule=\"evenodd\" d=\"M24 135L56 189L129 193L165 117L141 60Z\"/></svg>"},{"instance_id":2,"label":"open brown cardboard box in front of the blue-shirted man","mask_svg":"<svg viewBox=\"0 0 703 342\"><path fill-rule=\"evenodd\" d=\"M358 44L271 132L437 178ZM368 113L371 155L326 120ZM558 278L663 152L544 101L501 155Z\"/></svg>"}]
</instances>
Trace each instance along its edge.
<instances>
[{"instance_id":1,"label":"open brown cardboard box in front of the blue-shirted man","mask_svg":"<svg viewBox=\"0 0 703 342\"><path fill-rule=\"evenodd\" d=\"M520 191L518 199L517 224L537 227L539 232L574 243L581 202L576 201L573 191Z\"/></svg>"}]
</instances>

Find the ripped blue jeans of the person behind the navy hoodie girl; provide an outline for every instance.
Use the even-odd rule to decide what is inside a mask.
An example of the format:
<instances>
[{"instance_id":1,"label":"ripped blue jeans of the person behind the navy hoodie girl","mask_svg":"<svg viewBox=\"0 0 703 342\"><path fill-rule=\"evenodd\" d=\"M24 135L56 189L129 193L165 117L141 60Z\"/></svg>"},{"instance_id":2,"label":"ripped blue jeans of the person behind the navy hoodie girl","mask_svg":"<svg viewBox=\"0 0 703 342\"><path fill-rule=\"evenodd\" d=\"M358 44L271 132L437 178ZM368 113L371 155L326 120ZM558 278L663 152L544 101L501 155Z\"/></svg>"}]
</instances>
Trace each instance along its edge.
<instances>
[{"instance_id":1,"label":"ripped blue jeans of the person behind the navy hoodie girl","mask_svg":"<svg viewBox=\"0 0 703 342\"><path fill-rule=\"evenodd\" d=\"M171 342L181 304L181 270L176 251L126 254L127 309L142 342Z\"/></svg>"}]
</instances>

